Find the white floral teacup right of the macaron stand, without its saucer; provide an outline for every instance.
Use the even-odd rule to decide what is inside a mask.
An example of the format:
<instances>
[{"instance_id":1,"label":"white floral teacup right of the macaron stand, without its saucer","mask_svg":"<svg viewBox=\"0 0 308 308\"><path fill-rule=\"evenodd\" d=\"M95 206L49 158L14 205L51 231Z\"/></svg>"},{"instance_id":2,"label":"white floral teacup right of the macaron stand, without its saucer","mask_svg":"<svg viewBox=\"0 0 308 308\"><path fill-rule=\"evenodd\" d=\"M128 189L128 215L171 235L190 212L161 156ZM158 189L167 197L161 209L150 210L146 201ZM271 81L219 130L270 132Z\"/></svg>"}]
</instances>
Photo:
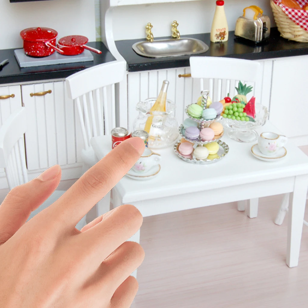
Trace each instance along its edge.
<instances>
[{"instance_id":1,"label":"white floral teacup right of the macaron stand, without its saucer","mask_svg":"<svg viewBox=\"0 0 308 308\"><path fill-rule=\"evenodd\" d=\"M273 156L287 143L287 140L286 136L264 132L258 138L258 146L264 155Z\"/></svg>"}]
</instances>

